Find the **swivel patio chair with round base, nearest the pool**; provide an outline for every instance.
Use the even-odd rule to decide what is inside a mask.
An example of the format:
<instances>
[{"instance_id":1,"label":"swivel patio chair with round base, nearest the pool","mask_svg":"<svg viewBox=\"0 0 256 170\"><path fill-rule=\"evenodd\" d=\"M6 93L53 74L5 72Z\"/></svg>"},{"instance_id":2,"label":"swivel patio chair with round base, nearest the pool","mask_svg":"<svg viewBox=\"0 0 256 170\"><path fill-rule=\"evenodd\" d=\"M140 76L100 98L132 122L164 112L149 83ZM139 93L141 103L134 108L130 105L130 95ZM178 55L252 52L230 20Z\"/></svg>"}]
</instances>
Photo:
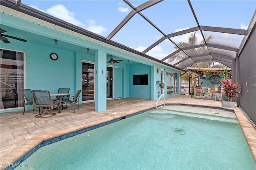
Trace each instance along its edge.
<instances>
[{"instance_id":1,"label":"swivel patio chair with round base, nearest the pool","mask_svg":"<svg viewBox=\"0 0 256 170\"><path fill-rule=\"evenodd\" d=\"M48 110L58 108L59 113L61 111L61 102L60 99L53 101L50 92L48 90L32 90L34 99L33 102L36 106L39 107L39 114L36 115L36 118L44 118L44 117L52 117L55 116L56 113L50 113ZM42 108L42 113L40 112L40 108ZM46 115L48 114L48 115Z\"/></svg>"}]
</instances>

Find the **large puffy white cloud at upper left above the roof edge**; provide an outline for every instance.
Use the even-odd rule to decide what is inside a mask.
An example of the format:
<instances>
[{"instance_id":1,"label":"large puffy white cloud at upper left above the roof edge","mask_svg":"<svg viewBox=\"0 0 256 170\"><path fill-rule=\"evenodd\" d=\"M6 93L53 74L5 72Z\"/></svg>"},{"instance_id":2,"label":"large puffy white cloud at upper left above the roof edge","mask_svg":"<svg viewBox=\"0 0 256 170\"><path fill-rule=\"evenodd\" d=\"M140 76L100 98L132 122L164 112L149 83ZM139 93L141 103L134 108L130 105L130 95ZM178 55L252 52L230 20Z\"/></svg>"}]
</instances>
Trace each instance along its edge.
<instances>
[{"instance_id":1,"label":"large puffy white cloud at upper left above the roof edge","mask_svg":"<svg viewBox=\"0 0 256 170\"><path fill-rule=\"evenodd\" d=\"M77 25L79 27L85 27L85 24L83 24L81 21L78 21L74 18L75 13L70 12L65 6L63 5L56 5L52 6L51 8L47 9L46 12L56 18L59 18L61 20L67 21L69 23L72 23L74 25Z\"/></svg>"}]
</instances>

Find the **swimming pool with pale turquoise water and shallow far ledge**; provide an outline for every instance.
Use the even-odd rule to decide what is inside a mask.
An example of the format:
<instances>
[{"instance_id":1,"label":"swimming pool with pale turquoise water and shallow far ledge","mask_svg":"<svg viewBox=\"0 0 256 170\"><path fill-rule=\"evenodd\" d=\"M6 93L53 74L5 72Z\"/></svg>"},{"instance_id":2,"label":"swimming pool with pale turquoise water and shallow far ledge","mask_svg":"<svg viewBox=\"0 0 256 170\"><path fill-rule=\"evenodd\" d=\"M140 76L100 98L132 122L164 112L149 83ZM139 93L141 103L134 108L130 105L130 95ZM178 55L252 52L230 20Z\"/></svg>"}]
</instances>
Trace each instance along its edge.
<instances>
[{"instance_id":1,"label":"swimming pool with pale turquoise water and shallow far ledge","mask_svg":"<svg viewBox=\"0 0 256 170\"><path fill-rule=\"evenodd\" d=\"M188 106L153 109L87 131L40 148L22 164L27 169L255 170L256 166L234 112Z\"/></svg>"}]
</instances>

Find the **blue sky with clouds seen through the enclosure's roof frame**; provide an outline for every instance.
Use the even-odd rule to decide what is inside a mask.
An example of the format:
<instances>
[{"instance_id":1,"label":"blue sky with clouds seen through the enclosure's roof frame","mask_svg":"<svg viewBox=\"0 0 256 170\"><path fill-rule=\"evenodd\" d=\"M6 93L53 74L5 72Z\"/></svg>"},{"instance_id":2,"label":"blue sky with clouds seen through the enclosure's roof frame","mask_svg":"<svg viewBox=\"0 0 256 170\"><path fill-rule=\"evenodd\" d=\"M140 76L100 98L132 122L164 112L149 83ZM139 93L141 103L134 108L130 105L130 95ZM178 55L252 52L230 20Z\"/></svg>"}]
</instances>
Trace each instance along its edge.
<instances>
[{"instance_id":1,"label":"blue sky with clouds seen through the enclosure's roof frame","mask_svg":"<svg viewBox=\"0 0 256 170\"><path fill-rule=\"evenodd\" d=\"M129 2L136 7L146 1ZM22 4L103 37L107 37L132 11L122 0L22 0ZM256 9L256 0L191 0L191 4L200 25L235 29L247 29ZM143 10L142 14L166 35L197 26L187 0L165 0ZM187 42L189 35L173 37L172 40ZM200 43L200 31L196 35ZM161 33L136 14L111 40L142 52L161 37ZM165 40L146 54L162 59L173 51L173 43Z\"/></svg>"}]
</instances>

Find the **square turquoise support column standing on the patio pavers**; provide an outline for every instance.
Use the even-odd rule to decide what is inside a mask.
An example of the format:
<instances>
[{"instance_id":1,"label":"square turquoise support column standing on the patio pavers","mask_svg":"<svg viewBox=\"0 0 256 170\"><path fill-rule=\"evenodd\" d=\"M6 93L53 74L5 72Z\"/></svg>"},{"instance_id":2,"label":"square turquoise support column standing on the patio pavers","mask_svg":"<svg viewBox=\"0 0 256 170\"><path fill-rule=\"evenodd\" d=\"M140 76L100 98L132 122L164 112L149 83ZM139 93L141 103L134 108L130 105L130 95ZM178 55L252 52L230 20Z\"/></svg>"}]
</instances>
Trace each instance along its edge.
<instances>
[{"instance_id":1,"label":"square turquoise support column standing on the patio pavers","mask_svg":"<svg viewBox=\"0 0 256 170\"><path fill-rule=\"evenodd\" d=\"M95 111L107 109L107 53L95 51Z\"/></svg>"}]
</instances>

